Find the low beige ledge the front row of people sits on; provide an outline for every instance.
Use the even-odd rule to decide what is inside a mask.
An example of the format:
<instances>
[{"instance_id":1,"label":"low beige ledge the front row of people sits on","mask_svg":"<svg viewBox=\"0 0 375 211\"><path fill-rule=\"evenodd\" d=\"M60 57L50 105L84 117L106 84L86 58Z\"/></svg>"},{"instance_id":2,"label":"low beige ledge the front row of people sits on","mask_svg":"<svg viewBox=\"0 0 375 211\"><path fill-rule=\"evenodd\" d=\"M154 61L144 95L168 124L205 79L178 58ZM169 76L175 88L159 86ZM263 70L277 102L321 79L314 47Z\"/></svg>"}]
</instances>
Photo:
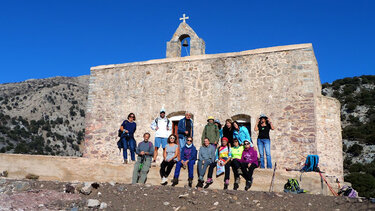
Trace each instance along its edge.
<instances>
[{"instance_id":1,"label":"low beige ledge the front row of people sits on","mask_svg":"<svg viewBox=\"0 0 375 211\"><path fill-rule=\"evenodd\" d=\"M39 175L40 180L65 181L65 182L118 182L131 183L133 165L116 164L103 162L101 160L81 158L81 157L58 157L41 155L19 155L0 153L0 171L7 170L9 178L22 179L29 173ZM196 171L196 168L195 168ZM169 176L169 181L173 177L174 169ZM215 173L215 172L214 172ZM272 178L272 170L256 169L254 172L254 182L251 190L268 191ZM196 172L194 173L194 186L197 183ZM288 178L300 178L299 172L287 172L284 169L276 171L274 191L282 192L284 184ZM212 189L223 188L223 176L214 178ZM148 174L147 183L153 185L160 184L159 165L153 166ZM244 189L244 179L241 178L240 190ZM187 184L187 170L181 170L180 183L183 187ZM337 185L331 184L335 189ZM170 185L170 183L168 184ZM326 185L321 189L320 176L317 173L304 173L300 182L302 188L311 194L330 195ZM233 174L231 172L231 182L229 189L233 188Z\"/></svg>"}]
</instances>

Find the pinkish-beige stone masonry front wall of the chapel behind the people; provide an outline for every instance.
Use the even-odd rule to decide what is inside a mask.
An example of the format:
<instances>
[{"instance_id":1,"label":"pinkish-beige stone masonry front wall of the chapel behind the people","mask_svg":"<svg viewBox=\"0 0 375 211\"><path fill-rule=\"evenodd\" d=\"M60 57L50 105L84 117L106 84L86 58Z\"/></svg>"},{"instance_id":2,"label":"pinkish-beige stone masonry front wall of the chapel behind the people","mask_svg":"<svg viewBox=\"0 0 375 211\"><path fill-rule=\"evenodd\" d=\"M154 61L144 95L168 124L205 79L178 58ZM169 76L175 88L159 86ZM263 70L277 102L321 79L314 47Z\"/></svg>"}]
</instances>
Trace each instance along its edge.
<instances>
[{"instance_id":1,"label":"pinkish-beige stone masonry front wall of the chapel behind the people","mask_svg":"<svg viewBox=\"0 0 375 211\"><path fill-rule=\"evenodd\" d=\"M318 79L311 44L93 67L84 156L121 162L116 135L128 113L136 115L140 142L164 105L167 114L193 113L197 147L207 116L223 122L246 114L253 127L265 113L276 127L270 134L273 162L297 167L318 152ZM254 142L256 137L252 131Z\"/></svg>"}]
</instances>

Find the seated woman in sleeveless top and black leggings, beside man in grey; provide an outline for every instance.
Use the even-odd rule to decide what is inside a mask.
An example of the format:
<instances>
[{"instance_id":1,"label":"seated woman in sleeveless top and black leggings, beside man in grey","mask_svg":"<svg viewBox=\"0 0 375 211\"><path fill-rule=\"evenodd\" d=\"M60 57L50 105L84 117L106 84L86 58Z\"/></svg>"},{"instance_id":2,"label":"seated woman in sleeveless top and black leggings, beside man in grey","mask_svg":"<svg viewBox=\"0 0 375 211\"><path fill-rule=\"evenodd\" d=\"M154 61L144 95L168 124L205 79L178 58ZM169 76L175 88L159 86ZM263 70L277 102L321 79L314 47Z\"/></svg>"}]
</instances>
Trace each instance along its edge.
<instances>
[{"instance_id":1,"label":"seated woman in sleeveless top and black leggings, beside man in grey","mask_svg":"<svg viewBox=\"0 0 375 211\"><path fill-rule=\"evenodd\" d=\"M180 154L180 148L176 143L177 137L176 135L172 134L168 137L167 146L165 147L163 157L164 160L160 165L160 177L161 177L161 184L166 185L168 184L168 176L172 171L174 164L177 162L178 155Z\"/></svg>"}]
</instances>

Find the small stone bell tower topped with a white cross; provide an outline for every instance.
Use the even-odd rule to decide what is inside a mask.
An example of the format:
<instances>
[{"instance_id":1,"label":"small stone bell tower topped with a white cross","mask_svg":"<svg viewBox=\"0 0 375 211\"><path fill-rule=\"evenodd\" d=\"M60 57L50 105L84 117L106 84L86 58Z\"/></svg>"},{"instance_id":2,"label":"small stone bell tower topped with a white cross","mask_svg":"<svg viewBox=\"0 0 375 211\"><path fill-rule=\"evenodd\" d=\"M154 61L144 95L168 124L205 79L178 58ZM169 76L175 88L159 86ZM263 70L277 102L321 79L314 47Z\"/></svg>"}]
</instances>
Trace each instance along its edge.
<instances>
[{"instance_id":1,"label":"small stone bell tower topped with a white cross","mask_svg":"<svg viewBox=\"0 0 375 211\"><path fill-rule=\"evenodd\" d=\"M172 39L167 42L167 58L181 57L181 42L185 38L190 38L190 56L205 54L206 45L204 40L199 38L194 30L186 23L185 14L180 18L182 22L178 26Z\"/></svg>"}]
</instances>

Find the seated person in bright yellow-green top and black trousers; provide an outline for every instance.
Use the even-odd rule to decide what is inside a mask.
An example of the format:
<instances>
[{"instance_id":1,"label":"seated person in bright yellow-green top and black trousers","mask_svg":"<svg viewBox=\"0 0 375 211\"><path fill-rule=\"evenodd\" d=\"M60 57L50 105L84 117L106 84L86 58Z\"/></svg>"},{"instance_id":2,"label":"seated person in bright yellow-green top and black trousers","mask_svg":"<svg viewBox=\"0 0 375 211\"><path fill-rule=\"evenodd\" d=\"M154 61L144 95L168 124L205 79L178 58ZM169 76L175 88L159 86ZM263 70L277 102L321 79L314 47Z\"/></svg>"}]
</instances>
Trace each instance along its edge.
<instances>
[{"instance_id":1,"label":"seated person in bright yellow-green top and black trousers","mask_svg":"<svg viewBox=\"0 0 375 211\"><path fill-rule=\"evenodd\" d=\"M245 140L245 143L246 141L247 140ZM233 190L237 190L240 183L240 174L242 174L240 160L244 147L238 143L237 139L234 139L233 146L230 149L232 151L231 167L234 175Z\"/></svg>"}]
</instances>

